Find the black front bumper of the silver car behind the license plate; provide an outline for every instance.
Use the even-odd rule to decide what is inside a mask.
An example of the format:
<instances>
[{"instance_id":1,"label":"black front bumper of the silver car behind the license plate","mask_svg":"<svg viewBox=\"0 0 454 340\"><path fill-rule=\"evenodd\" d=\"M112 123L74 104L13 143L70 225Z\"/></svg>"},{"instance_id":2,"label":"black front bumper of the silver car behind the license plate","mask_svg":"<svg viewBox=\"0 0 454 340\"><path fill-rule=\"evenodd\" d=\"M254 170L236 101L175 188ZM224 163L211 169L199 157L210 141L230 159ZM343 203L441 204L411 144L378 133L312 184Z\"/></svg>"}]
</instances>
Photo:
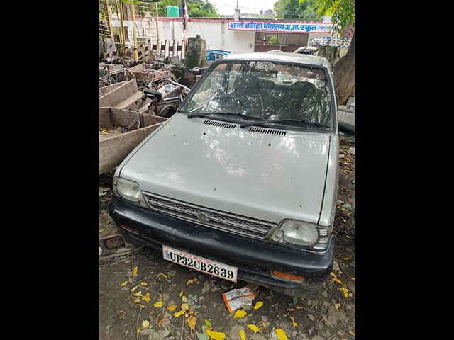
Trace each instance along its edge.
<instances>
[{"instance_id":1,"label":"black front bumper of the silver car behind the license plate","mask_svg":"<svg viewBox=\"0 0 454 340\"><path fill-rule=\"evenodd\" d=\"M314 295L331 272L334 239L323 254L290 249L259 239L221 232L160 212L140 208L114 197L109 215L133 242L162 250L162 244L238 267L238 279L291 296ZM123 228L135 229L136 234ZM271 271L304 276L304 283L279 280Z\"/></svg>"}]
</instances>

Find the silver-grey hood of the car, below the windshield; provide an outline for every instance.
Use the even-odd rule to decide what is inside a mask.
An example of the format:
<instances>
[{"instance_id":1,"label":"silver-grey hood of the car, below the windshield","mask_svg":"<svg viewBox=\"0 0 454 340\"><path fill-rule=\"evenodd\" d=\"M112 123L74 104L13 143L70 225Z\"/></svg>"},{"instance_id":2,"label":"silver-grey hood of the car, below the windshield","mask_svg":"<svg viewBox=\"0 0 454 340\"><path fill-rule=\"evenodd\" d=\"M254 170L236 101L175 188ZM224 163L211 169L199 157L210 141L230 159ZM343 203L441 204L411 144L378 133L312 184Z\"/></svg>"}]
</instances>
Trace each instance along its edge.
<instances>
[{"instance_id":1,"label":"silver-grey hood of the car, below the windshield","mask_svg":"<svg viewBox=\"0 0 454 340\"><path fill-rule=\"evenodd\" d=\"M262 133L270 130L286 135ZM206 208L275 223L316 223L329 142L328 134L242 129L176 113L135 149L120 176L143 191Z\"/></svg>"}]
</instances>

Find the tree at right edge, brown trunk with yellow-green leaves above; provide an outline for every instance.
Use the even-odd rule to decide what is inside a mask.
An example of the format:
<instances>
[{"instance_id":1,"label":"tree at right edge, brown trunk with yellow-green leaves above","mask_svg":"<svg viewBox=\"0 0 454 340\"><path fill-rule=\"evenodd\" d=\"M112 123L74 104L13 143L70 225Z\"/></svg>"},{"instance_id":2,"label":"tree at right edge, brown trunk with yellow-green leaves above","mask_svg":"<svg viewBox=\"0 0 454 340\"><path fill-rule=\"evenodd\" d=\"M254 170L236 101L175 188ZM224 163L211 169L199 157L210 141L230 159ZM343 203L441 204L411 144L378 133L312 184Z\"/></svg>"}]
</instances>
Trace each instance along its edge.
<instances>
[{"instance_id":1,"label":"tree at right edge, brown trunk with yellow-green leaves above","mask_svg":"<svg viewBox=\"0 0 454 340\"><path fill-rule=\"evenodd\" d=\"M333 32L341 34L348 26L355 27L355 0L316 0L319 13L331 14ZM355 93L355 33L348 52L333 67L338 103L344 105Z\"/></svg>"}]
</instances>

